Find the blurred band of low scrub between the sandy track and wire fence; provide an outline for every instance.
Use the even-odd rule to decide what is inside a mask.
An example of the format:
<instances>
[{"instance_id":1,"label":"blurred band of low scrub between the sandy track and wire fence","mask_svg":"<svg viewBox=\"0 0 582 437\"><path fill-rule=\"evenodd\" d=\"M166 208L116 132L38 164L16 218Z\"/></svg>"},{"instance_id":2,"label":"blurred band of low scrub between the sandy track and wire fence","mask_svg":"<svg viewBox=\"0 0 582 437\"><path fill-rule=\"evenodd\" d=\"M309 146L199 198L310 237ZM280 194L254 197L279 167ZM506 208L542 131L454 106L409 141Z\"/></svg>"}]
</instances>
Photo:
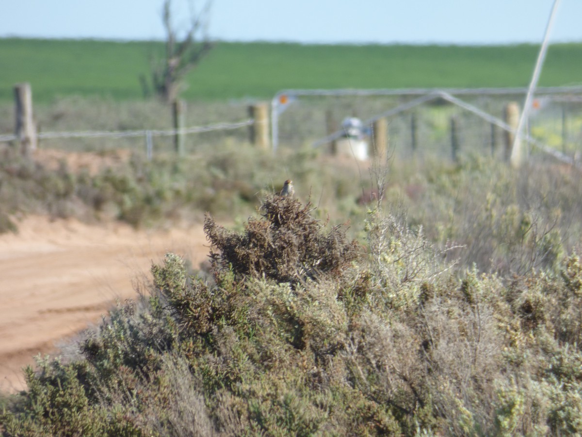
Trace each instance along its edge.
<instances>
[{"instance_id":1,"label":"blurred band of low scrub between the sandy track and wire fence","mask_svg":"<svg viewBox=\"0 0 582 437\"><path fill-rule=\"evenodd\" d=\"M203 212L236 220L253 212L261 192L275 191L269 181L278 180L282 172L301 177L297 191L302 198L311 186L327 192L347 176L357 175L355 167L343 172L322 169L313 152L306 156L303 150L286 151L274 157L249 145L227 144L184 158L160 153L152 161L139 153L125 157L122 152L104 153L102 166L95 170L71 168L64 155L55 170L41 158L23 159L11 147L1 151L0 232L16 231L13 217L29 213L87 221L113 218L134 227L196 220ZM309 165L304 165L306 160ZM327 212L335 223L339 217L343 222L343 217L363 215L356 207L358 192L359 187L352 184L343 202L331 197L320 203L318 213Z\"/></svg>"}]
</instances>

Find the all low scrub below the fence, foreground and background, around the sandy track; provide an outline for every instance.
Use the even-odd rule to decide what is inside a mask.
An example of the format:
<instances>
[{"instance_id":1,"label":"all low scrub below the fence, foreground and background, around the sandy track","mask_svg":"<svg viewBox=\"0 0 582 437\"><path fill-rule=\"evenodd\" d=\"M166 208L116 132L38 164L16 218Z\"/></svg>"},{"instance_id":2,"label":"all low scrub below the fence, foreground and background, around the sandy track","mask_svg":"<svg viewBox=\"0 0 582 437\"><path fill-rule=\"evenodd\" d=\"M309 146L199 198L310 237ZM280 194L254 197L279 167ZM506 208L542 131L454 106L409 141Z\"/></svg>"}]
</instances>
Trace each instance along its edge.
<instances>
[{"instance_id":1,"label":"all low scrub below the fence, foreground and background, around the sandy track","mask_svg":"<svg viewBox=\"0 0 582 437\"><path fill-rule=\"evenodd\" d=\"M386 211L365 213L354 173L313 151L281 164L239 149L96 172L6 155L6 217L82 203L139 225L187 205L237 230L208 215L210 274L168 253L149 295L112 309L79 354L28 369L28 389L2 399L4 435L576 434L576 174L483 158L394 165ZM258 182L283 170L300 174L299 199L334 194L314 209ZM257 217L236 224L261 189ZM324 225L327 212L353 228Z\"/></svg>"}]
</instances>

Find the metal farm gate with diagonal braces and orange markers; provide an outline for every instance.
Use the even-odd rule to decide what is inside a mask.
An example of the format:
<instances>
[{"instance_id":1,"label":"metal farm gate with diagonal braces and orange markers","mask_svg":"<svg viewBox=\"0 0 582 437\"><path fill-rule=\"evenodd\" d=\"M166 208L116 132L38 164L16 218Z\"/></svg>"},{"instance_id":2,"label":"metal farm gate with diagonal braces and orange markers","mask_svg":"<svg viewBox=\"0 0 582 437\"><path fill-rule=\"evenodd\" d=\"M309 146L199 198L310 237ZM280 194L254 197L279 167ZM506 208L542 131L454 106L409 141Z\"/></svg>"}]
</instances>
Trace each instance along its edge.
<instances>
[{"instance_id":1,"label":"metal farm gate with diagonal braces and orange markers","mask_svg":"<svg viewBox=\"0 0 582 437\"><path fill-rule=\"evenodd\" d=\"M521 106L526 91L285 90L272 101L278 136L274 142L281 147L310 143L325 149L344 134L343 119L357 117L369 127L382 117L388 120L389 147L400 157L506 157L510 135L516 132L506 121L507 107ZM577 161L582 153L582 87L538 89L521 138L530 158Z\"/></svg>"}]
</instances>

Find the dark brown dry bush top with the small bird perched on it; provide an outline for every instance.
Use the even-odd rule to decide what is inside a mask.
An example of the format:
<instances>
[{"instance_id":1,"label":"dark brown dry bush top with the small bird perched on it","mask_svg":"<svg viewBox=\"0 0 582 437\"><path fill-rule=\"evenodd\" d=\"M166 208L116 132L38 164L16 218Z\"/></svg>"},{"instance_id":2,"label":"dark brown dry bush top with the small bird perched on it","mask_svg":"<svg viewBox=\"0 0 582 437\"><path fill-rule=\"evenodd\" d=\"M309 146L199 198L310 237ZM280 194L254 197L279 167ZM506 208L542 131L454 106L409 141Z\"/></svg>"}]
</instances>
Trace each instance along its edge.
<instances>
[{"instance_id":1,"label":"dark brown dry bush top with the small bird perched on it","mask_svg":"<svg viewBox=\"0 0 582 437\"><path fill-rule=\"evenodd\" d=\"M310 216L310 204L277 195L261 206L261 218L250 218L244 234L227 231L207 215L204 230L219 252L211 253L215 269L237 276L296 284L322 273L339 274L357 256L355 241L333 227L327 234Z\"/></svg>"}]
</instances>

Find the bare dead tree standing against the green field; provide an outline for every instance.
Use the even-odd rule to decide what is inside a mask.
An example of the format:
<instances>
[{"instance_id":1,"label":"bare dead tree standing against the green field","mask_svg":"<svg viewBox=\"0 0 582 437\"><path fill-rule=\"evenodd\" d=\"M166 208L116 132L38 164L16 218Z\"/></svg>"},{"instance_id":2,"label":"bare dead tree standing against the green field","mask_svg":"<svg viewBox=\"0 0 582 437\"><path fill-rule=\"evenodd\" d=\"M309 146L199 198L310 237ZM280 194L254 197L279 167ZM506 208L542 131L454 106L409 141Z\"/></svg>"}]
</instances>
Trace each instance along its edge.
<instances>
[{"instance_id":1,"label":"bare dead tree standing against the green field","mask_svg":"<svg viewBox=\"0 0 582 437\"><path fill-rule=\"evenodd\" d=\"M166 30L166 51L163 59L152 62L154 92L167 103L176 101L184 88L184 77L208 54L213 44L208 39L207 27L211 1L200 11L190 3L190 26L179 38L172 17L172 0L164 1L162 19Z\"/></svg>"}]
</instances>

